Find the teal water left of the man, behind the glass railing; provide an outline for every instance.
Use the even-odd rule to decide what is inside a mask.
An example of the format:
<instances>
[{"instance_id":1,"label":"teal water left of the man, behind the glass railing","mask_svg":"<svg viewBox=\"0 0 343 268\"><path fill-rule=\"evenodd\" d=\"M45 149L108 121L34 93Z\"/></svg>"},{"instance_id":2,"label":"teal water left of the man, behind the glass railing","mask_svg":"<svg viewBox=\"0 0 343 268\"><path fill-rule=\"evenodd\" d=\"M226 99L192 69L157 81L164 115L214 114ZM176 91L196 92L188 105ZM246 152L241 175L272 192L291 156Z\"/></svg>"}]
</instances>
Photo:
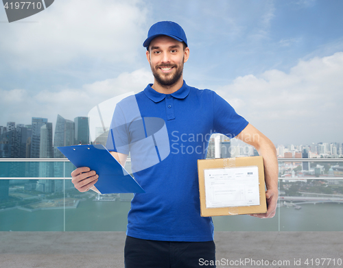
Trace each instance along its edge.
<instances>
[{"instance_id":1,"label":"teal water left of the man, behind the glass railing","mask_svg":"<svg viewBox=\"0 0 343 268\"><path fill-rule=\"evenodd\" d=\"M65 210L65 231L124 231L130 202L93 202ZM0 231L64 231L64 209L0 212Z\"/></svg>"}]
</instances>

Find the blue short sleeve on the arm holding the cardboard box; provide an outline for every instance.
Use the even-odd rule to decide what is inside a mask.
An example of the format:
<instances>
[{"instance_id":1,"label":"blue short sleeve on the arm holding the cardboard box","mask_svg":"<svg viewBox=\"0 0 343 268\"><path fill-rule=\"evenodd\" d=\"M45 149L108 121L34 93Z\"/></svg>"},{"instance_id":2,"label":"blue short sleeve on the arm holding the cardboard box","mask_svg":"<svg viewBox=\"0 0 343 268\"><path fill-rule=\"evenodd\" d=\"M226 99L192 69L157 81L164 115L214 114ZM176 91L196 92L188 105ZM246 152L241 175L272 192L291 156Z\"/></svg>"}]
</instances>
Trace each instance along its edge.
<instances>
[{"instance_id":1,"label":"blue short sleeve on the arm holding the cardboard box","mask_svg":"<svg viewBox=\"0 0 343 268\"><path fill-rule=\"evenodd\" d=\"M213 91L213 131L234 138L248 125L230 104Z\"/></svg>"}]
</instances>

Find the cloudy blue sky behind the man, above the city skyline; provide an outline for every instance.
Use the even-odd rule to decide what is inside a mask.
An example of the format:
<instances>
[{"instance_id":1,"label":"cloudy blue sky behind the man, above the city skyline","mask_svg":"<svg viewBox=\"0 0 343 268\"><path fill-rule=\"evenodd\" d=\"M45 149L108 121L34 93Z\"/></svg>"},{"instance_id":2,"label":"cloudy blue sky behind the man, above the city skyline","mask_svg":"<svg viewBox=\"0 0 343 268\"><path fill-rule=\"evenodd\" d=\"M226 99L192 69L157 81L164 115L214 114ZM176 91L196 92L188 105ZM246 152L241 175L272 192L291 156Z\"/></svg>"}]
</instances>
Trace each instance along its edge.
<instances>
[{"instance_id":1,"label":"cloudy blue sky behind the man, above the city skyline","mask_svg":"<svg viewBox=\"0 0 343 268\"><path fill-rule=\"evenodd\" d=\"M8 23L0 8L0 125L55 125L138 93L153 82L148 29L175 21L187 84L215 90L274 144L343 143L342 10L340 0L56 0Z\"/></svg>"}]
</instances>

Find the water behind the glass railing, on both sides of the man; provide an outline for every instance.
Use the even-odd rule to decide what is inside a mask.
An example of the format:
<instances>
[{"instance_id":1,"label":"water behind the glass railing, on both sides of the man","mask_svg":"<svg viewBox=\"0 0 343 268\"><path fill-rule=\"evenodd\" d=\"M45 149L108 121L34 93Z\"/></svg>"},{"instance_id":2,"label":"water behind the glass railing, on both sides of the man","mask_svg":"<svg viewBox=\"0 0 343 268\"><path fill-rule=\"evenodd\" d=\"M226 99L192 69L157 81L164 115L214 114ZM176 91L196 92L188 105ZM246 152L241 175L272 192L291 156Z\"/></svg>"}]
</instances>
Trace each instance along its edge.
<instances>
[{"instance_id":1,"label":"water behind the glass railing, on both sides of the man","mask_svg":"<svg viewBox=\"0 0 343 268\"><path fill-rule=\"evenodd\" d=\"M343 231L343 204L300 206L278 208L272 219L220 216L213 223L215 231ZM130 202L93 202L93 197L65 211L7 210L0 212L0 231L125 231L129 210Z\"/></svg>"}]
</instances>

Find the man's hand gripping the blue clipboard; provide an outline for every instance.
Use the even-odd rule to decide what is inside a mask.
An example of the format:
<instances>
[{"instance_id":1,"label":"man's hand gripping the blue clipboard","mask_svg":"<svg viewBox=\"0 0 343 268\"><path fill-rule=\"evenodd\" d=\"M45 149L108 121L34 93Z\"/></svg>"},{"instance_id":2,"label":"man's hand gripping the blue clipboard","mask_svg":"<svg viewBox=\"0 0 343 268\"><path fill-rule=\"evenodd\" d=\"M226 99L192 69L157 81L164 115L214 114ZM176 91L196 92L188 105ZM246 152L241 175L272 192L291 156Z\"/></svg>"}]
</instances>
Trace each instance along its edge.
<instances>
[{"instance_id":1,"label":"man's hand gripping the blue clipboard","mask_svg":"<svg viewBox=\"0 0 343 268\"><path fill-rule=\"evenodd\" d=\"M80 192L88 191L96 182L99 175L89 167L79 167L71 172L71 182Z\"/></svg>"}]
</instances>

